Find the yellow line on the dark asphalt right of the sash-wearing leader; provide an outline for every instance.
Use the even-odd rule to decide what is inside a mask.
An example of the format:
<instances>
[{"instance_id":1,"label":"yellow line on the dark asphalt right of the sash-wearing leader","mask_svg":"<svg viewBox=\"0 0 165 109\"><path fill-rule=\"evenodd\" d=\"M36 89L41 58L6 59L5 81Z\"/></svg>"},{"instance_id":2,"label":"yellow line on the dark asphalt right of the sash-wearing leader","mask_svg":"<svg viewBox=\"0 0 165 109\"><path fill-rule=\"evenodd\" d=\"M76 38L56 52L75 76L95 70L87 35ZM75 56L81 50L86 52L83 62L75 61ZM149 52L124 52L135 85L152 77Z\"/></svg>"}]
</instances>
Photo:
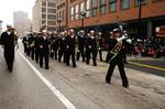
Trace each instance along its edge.
<instances>
[{"instance_id":1,"label":"yellow line on the dark asphalt right of the sash-wearing leader","mask_svg":"<svg viewBox=\"0 0 165 109\"><path fill-rule=\"evenodd\" d=\"M153 69L158 69L158 70L165 72L165 68L157 67L157 66L152 66L152 65L146 65L146 64L140 64L140 63L134 63L134 62L129 62L129 63L133 64L133 65L139 65L139 66L143 66L143 67L147 67L147 68L153 68Z\"/></svg>"}]
</instances>

